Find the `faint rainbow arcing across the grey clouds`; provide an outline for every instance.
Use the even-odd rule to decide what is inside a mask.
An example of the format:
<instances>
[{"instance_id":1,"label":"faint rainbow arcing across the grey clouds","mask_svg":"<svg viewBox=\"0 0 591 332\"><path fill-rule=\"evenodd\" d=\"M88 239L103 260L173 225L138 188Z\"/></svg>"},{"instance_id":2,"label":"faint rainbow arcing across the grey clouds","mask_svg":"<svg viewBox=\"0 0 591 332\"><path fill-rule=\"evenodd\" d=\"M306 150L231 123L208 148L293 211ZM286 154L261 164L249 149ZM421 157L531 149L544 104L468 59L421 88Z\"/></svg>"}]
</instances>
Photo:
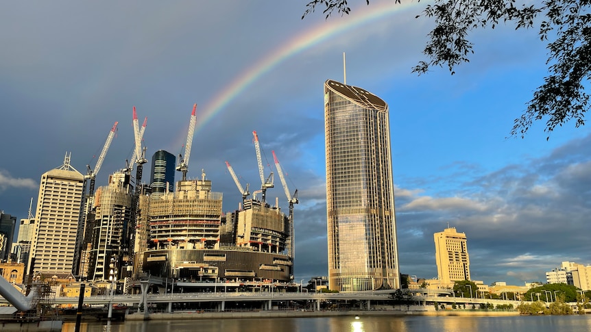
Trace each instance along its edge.
<instances>
[{"instance_id":1,"label":"faint rainbow arcing across the grey clouds","mask_svg":"<svg viewBox=\"0 0 591 332\"><path fill-rule=\"evenodd\" d=\"M300 53L304 49L309 49L331 36L342 34L354 27L359 27L360 25L372 21L378 21L417 4L418 3L414 1L409 1L405 4L395 3L394 1L387 1L380 5L373 5L370 3L370 5L366 6L365 10L358 10L359 13L352 12L350 17L346 17L348 19L338 17L329 18L328 21L316 25L311 29L304 31L302 34L295 36L265 58L258 61L254 66L241 73L241 75L237 76L228 86L224 87L224 89L216 94L215 97L206 104L206 107L204 107L205 112L200 116L197 116L197 127L195 130L198 131L204 127L213 116L221 110L224 110L224 107L226 107L230 101L241 94L246 88L253 84L254 81L265 75L265 73L268 73L272 68L285 61L287 58Z\"/></svg>"}]
</instances>

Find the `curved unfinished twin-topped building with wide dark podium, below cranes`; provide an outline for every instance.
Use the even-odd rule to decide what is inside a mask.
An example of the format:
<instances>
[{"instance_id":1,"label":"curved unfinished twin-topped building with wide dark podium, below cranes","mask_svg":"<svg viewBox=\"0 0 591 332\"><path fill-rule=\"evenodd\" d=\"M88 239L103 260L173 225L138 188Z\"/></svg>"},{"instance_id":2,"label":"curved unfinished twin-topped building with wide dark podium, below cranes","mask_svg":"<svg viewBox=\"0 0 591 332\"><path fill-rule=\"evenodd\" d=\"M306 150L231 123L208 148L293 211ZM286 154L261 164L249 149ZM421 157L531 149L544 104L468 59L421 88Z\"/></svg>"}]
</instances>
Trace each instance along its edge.
<instances>
[{"instance_id":1,"label":"curved unfinished twin-topped building with wide dark podium, below cranes","mask_svg":"<svg viewBox=\"0 0 591 332\"><path fill-rule=\"evenodd\" d=\"M145 251L136 254L135 270L184 281L291 281L287 216L253 200L224 215L221 201L205 174L145 201L149 213L138 219L138 231L149 225L149 235Z\"/></svg>"}]
</instances>

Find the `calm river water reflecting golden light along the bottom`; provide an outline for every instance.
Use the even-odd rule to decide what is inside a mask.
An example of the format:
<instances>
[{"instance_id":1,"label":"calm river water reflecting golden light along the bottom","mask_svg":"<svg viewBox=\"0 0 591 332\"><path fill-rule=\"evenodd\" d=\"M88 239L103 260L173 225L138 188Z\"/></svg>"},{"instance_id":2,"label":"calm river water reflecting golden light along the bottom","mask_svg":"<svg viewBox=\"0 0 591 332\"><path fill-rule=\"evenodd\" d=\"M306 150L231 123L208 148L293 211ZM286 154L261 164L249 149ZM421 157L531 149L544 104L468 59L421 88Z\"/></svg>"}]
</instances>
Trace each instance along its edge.
<instances>
[{"instance_id":1,"label":"calm river water reflecting golden light along the bottom","mask_svg":"<svg viewBox=\"0 0 591 332\"><path fill-rule=\"evenodd\" d=\"M74 332L75 323L66 322L62 332ZM246 318L212 320L128 320L125 322L82 322L80 332L588 332L591 315L582 316L361 316L324 318Z\"/></svg>"}]
</instances>

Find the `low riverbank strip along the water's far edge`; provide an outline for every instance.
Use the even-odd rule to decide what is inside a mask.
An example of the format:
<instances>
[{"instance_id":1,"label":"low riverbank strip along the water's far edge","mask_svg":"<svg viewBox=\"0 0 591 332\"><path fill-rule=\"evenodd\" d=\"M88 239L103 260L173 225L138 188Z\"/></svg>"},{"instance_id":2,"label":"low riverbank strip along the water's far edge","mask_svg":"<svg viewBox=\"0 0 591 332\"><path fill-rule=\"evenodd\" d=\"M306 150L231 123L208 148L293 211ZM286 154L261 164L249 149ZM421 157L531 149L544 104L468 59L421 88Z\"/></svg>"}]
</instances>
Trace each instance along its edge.
<instances>
[{"instance_id":1,"label":"low riverbank strip along the water's far edge","mask_svg":"<svg viewBox=\"0 0 591 332\"><path fill-rule=\"evenodd\" d=\"M195 319L243 319L243 318L311 318L311 317L354 317L354 316L472 316L472 317L503 317L519 316L518 311L455 311L455 310L426 310L426 311L394 311L394 310L352 310L352 311L176 311L149 314L149 320L195 320ZM134 313L125 316L125 320L144 320L144 314Z\"/></svg>"}]
</instances>

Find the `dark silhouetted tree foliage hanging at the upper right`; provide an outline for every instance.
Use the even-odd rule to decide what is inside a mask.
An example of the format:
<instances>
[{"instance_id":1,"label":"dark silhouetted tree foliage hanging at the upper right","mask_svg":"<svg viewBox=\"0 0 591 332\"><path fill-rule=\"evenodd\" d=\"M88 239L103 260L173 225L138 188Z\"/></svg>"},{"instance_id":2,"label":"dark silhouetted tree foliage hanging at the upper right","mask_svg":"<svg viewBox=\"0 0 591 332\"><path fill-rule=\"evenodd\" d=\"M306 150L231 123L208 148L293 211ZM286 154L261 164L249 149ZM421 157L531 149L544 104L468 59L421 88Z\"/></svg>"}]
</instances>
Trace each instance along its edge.
<instances>
[{"instance_id":1,"label":"dark silhouetted tree foliage hanging at the upper right","mask_svg":"<svg viewBox=\"0 0 591 332\"><path fill-rule=\"evenodd\" d=\"M365 2L370 4L369 0ZM548 76L533 92L524 114L514 121L511 136L523 138L533 121L546 119L547 140L555 127L569 120L575 121L575 127L585 125L585 113L591 107L584 86L591 79L591 1L523 2L528 4L516 5L515 0L434 0L416 16L434 18L435 27L423 50L427 60L420 61L412 71L420 75L433 66L447 66L453 75L457 65L470 61L474 50L468 35L479 27L494 29L499 22L513 22L516 29L538 27L540 40L548 40ZM341 15L351 11L347 0L313 0L302 18L317 6L324 7L326 18L335 11Z\"/></svg>"}]
</instances>

